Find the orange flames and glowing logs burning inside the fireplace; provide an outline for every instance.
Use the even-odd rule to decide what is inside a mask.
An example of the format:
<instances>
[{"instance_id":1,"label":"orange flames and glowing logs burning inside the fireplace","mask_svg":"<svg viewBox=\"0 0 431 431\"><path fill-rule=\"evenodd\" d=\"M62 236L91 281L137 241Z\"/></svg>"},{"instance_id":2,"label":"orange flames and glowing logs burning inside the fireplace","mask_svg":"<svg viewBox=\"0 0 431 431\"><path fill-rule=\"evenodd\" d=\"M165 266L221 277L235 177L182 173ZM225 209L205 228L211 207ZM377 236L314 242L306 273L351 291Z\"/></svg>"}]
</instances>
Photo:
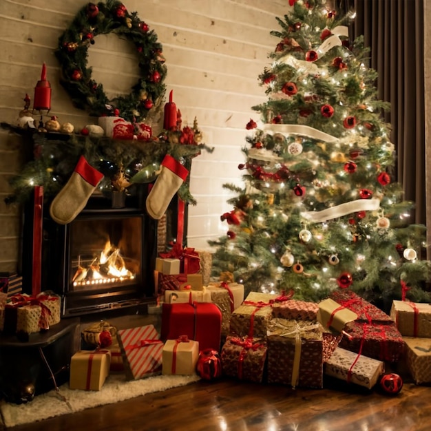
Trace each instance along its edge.
<instances>
[{"instance_id":1,"label":"orange flames and glowing logs burning inside the fireplace","mask_svg":"<svg viewBox=\"0 0 431 431\"><path fill-rule=\"evenodd\" d=\"M134 273L126 268L120 249L107 241L101 255L94 257L87 267L81 266L78 260L78 269L72 282L74 286L94 286L133 280L134 277Z\"/></svg>"}]
</instances>

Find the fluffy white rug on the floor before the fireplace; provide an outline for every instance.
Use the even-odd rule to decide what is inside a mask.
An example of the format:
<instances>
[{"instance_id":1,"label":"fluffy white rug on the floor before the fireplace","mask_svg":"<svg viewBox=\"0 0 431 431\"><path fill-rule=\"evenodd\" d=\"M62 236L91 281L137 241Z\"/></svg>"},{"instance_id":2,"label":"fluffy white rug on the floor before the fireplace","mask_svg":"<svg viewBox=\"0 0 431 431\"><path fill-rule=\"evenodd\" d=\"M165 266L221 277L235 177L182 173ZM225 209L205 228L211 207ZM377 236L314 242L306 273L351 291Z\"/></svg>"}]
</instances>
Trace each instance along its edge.
<instances>
[{"instance_id":1,"label":"fluffy white rug on the floor before the fireplace","mask_svg":"<svg viewBox=\"0 0 431 431\"><path fill-rule=\"evenodd\" d=\"M23 423L42 421L49 417L79 412L86 408L124 401L139 395L159 392L177 386L184 386L200 380L197 375L160 375L146 379L126 381L123 373L112 373L105 380L100 391L71 390L69 383L60 386L59 392L52 390L35 397L27 404L3 402L1 416L7 427ZM61 397L64 397L64 401Z\"/></svg>"}]
</instances>

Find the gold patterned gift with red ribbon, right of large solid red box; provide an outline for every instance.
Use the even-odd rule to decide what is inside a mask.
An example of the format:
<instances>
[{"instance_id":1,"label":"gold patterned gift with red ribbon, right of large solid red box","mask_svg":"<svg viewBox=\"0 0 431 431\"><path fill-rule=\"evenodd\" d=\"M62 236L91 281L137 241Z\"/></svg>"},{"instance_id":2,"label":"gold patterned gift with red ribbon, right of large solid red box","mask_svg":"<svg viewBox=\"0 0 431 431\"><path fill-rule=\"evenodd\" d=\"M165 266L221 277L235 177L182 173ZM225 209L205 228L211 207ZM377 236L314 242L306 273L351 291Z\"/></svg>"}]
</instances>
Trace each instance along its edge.
<instances>
[{"instance_id":1,"label":"gold patterned gift with red ribbon, right of large solid red box","mask_svg":"<svg viewBox=\"0 0 431 431\"><path fill-rule=\"evenodd\" d=\"M250 292L231 315L231 333L240 337L266 337L273 316L271 304L276 298L270 293Z\"/></svg>"}]
</instances>

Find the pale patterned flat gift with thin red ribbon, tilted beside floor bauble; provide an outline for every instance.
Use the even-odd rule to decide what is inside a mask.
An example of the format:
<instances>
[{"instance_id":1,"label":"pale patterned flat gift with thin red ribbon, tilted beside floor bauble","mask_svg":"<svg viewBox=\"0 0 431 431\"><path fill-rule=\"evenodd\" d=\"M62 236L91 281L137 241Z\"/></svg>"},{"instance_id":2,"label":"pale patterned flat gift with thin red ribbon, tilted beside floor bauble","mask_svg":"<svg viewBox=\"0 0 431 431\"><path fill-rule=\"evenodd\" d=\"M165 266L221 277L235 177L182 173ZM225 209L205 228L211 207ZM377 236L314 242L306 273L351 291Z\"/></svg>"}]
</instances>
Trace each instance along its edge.
<instances>
[{"instance_id":1,"label":"pale patterned flat gift with thin red ribbon, tilted beside floor bauble","mask_svg":"<svg viewBox=\"0 0 431 431\"><path fill-rule=\"evenodd\" d=\"M371 389L385 370L385 364L370 357L336 348L324 364L325 375Z\"/></svg>"}]
</instances>

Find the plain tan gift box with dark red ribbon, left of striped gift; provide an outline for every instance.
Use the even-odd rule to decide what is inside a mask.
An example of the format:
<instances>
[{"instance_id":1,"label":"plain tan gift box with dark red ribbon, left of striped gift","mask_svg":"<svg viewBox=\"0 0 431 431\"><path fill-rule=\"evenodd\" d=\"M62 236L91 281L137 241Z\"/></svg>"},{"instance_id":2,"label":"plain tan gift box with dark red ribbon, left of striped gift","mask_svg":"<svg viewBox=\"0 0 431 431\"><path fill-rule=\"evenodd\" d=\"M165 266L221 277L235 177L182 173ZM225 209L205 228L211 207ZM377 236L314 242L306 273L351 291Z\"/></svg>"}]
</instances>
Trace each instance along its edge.
<instances>
[{"instance_id":1,"label":"plain tan gift box with dark red ribbon, left of striped gift","mask_svg":"<svg viewBox=\"0 0 431 431\"><path fill-rule=\"evenodd\" d=\"M109 375L109 350L81 350L70 361L70 389L101 390Z\"/></svg>"}]
</instances>

